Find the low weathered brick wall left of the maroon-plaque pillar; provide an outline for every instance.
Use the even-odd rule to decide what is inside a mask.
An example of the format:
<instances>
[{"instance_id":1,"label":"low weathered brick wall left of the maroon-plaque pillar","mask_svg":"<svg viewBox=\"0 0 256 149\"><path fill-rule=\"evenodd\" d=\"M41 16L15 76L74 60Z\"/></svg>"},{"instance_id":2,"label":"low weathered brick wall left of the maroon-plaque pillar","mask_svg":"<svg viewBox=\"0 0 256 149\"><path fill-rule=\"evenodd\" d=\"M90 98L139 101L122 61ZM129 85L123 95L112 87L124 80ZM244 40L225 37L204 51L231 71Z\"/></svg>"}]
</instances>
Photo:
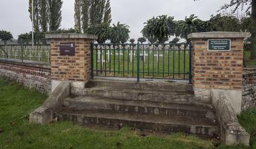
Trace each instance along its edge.
<instances>
[{"instance_id":1,"label":"low weathered brick wall left of the maroon-plaque pillar","mask_svg":"<svg viewBox=\"0 0 256 149\"><path fill-rule=\"evenodd\" d=\"M51 90L50 65L47 63L0 59L0 77L46 94Z\"/></svg>"}]
</instances>

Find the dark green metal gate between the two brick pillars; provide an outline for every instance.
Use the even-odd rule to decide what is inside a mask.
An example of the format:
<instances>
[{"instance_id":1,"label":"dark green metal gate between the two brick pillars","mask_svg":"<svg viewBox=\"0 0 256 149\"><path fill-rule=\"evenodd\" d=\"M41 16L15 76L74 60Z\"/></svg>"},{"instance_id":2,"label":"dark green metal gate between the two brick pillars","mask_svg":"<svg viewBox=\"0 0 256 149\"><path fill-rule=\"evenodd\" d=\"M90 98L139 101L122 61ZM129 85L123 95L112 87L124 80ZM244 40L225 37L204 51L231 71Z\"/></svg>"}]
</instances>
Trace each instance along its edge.
<instances>
[{"instance_id":1,"label":"dark green metal gate between the two brick pillars","mask_svg":"<svg viewBox=\"0 0 256 149\"><path fill-rule=\"evenodd\" d=\"M92 76L189 80L187 44L91 44Z\"/></svg>"}]
</instances>

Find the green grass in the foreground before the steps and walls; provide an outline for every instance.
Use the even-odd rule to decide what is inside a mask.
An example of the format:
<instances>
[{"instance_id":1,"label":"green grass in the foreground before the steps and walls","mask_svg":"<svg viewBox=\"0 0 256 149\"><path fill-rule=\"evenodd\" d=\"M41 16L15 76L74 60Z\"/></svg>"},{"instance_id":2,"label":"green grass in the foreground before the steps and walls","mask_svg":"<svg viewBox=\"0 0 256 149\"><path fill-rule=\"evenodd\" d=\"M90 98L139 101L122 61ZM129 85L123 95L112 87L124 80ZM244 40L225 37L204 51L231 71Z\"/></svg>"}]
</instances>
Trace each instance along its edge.
<instances>
[{"instance_id":1,"label":"green grass in the foreground before the steps and walls","mask_svg":"<svg viewBox=\"0 0 256 149\"><path fill-rule=\"evenodd\" d=\"M132 128L95 130L71 122L30 124L30 112L47 96L0 78L0 149L2 148L247 148L219 146L217 140L202 140L181 133L144 134ZM251 134L256 148L256 109L247 110L239 121Z\"/></svg>"}]
</instances>

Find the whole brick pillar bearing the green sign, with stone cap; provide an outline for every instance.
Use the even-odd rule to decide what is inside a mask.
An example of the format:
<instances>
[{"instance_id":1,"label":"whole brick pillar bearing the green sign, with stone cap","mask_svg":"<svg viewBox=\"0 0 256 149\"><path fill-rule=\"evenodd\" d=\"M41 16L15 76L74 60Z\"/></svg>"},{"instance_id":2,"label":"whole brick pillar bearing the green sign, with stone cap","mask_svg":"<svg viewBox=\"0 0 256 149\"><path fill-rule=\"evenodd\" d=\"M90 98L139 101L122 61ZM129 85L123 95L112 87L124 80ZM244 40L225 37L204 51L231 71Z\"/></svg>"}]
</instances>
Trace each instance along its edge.
<instances>
[{"instance_id":1,"label":"whole brick pillar bearing the green sign, with stone cap","mask_svg":"<svg viewBox=\"0 0 256 149\"><path fill-rule=\"evenodd\" d=\"M250 33L234 32L189 34L193 45L192 82L195 96L210 102L211 90L226 90L234 110L241 112L243 40L249 36Z\"/></svg>"}]
</instances>

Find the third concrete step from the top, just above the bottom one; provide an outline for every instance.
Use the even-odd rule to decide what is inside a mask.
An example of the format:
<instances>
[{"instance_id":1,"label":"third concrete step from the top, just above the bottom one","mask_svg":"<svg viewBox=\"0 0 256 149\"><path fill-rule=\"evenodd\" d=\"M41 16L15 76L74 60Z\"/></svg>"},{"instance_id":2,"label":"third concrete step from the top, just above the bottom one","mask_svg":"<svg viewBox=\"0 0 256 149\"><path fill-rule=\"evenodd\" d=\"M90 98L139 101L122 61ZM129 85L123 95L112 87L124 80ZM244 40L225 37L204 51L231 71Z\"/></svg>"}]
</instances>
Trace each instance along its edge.
<instances>
[{"instance_id":1,"label":"third concrete step from the top, just above the bottom one","mask_svg":"<svg viewBox=\"0 0 256 149\"><path fill-rule=\"evenodd\" d=\"M76 98L66 98L64 100L64 106L73 110L97 110L100 112L128 114L185 116L190 118L205 118L212 122L216 120L216 114L212 106L208 104L163 103L79 96Z\"/></svg>"}]
</instances>

